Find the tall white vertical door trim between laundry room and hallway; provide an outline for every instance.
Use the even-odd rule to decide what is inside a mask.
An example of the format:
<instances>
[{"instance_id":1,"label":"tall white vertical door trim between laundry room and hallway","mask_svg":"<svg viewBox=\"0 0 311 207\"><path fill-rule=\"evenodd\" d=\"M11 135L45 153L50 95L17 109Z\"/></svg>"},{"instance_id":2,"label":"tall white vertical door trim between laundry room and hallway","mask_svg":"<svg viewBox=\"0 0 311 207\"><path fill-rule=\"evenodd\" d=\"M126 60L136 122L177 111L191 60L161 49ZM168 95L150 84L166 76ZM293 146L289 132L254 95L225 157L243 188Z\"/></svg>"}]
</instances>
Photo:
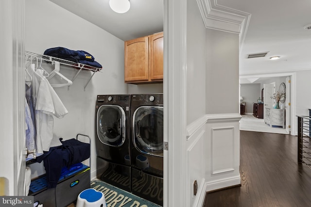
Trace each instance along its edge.
<instances>
[{"instance_id":1,"label":"tall white vertical door trim between laundry room and hallway","mask_svg":"<svg viewBox=\"0 0 311 207\"><path fill-rule=\"evenodd\" d=\"M164 0L163 207L187 203L187 0Z\"/></svg>"}]
</instances>

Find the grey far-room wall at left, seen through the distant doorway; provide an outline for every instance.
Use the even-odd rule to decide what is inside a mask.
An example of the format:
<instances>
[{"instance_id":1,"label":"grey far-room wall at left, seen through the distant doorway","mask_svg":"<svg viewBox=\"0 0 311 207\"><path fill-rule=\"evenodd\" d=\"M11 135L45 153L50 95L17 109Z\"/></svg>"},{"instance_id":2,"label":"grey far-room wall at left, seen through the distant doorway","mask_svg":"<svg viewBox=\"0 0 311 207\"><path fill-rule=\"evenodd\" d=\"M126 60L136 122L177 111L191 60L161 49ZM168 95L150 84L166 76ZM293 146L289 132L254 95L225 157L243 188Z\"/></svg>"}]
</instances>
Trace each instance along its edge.
<instances>
[{"instance_id":1,"label":"grey far-room wall at left, seen through the distant doorway","mask_svg":"<svg viewBox=\"0 0 311 207\"><path fill-rule=\"evenodd\" d=\"M241 84L240 96L245 102L245 113L253 113L253 103L257 103L257 99L261 96L260 83Z\"/></svg>"}]
</instances>

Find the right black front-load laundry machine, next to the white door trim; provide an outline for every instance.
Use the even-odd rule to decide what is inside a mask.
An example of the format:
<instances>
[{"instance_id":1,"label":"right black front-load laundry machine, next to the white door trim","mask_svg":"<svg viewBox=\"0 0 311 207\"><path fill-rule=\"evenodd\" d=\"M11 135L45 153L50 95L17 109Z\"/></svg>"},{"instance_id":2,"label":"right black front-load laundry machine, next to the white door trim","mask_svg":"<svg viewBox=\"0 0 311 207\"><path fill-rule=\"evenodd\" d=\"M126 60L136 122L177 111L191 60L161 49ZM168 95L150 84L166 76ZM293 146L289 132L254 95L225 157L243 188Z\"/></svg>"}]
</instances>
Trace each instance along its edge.
<instances>
[{"instance_id":1,"label":"right black front-load laundry machine, next to the white door trim","mask_svg":"<svg viewBox=\"0 0 311 207\"><path fill-rule=\"evenodd\" d=\"M132 193L163 206L163 94L131 96Z\"/></svg>"}]
</instances>

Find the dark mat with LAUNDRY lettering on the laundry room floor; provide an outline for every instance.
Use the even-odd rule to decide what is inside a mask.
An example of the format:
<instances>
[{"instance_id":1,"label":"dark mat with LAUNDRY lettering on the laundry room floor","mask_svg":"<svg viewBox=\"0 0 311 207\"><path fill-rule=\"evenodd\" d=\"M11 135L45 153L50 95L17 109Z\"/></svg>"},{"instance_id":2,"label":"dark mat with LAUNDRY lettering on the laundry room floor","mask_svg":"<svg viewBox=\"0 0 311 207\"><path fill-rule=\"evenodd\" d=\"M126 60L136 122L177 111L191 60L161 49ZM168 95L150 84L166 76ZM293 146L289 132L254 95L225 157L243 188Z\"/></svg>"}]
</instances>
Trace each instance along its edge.
<instances>
[{"instance_id":1,"label":"dark mat with LAUNDRY lettering on the laundry room floor","mask_svg":"<svg viewBox=\"0 0 311 207\"><path fill-rule=\"evenodd\" d=\"M123 191L100 180L91 181L91 188L104 193L107 207L160 207L155 203L133 195L130 192Z\"/></svg>"}]
</instances>

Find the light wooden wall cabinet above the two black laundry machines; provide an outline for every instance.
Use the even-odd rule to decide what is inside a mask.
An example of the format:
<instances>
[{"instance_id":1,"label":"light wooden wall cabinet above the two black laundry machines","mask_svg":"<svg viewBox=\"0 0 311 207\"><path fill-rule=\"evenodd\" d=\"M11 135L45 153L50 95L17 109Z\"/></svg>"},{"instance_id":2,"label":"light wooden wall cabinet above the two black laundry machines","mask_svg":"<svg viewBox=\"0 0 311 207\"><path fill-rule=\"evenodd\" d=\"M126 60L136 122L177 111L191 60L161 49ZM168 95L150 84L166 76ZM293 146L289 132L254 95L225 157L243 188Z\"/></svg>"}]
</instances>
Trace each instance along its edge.
<instances>
[{"instance_id":1,"label":"light wooden wall cabinet above the two black laundry machines","mask_svg":"<svg viewBox=\"0 0 311 207\"><path fill-rule=\"evenodd\" d=\"M163 32L124 42L124 81L163 82Z\"/></svg>"}]
</instances>

